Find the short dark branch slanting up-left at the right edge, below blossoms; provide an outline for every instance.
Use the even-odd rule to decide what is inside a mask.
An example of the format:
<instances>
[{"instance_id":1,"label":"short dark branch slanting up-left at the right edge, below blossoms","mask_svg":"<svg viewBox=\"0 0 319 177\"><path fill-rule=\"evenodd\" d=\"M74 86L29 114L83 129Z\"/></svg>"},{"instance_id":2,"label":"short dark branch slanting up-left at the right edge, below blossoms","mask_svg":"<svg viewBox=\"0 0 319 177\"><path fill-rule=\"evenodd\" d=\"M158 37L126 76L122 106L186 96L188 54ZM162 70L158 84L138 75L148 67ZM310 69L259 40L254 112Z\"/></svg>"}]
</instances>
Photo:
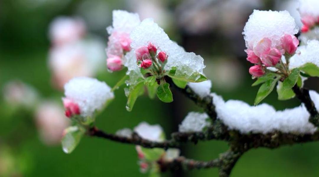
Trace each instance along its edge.
<instances>
[{"instance_id":1,"label":"short dark branch slanting up-left at the right edge, below blossoms","mask_svg":"<svg viewBox=\"0 0 319 177\"><path fill-rule=\"evenodd\" d=\"M296 94L297 98L305 104L308 112L310 113L309 122L319 127L319 113L315 107L314 102L311 100L309 95L309 90L304 88L299 88L296 85L293 86L293 92Z\"/></svg>"}]
</instances>

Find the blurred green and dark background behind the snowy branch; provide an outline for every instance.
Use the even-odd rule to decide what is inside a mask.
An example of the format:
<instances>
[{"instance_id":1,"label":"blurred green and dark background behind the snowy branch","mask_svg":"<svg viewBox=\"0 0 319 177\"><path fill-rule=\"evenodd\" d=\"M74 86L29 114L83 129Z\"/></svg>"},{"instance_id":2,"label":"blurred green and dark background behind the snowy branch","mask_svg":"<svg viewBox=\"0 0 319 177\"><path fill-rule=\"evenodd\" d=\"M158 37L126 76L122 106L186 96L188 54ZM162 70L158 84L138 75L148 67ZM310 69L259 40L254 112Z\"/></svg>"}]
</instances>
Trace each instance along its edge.
<instances>
[{"instance_id":1,"label":"blurred green and dark background behind the snowy branch","mask_svg":"<svg viewBox=\"0 0 319 177\"><path fill-rule=\"evenodd\" d=\"M58 16L77 16L85 20L88 31L100 36L107 44L105 28L111 25L113 9L142 13L145 0L1 0L0 1L0 86L19 79L33 86L42 99L60 102L63 91L52 87L48 68L48 26ZM212 80L212 91L225 100L240 99L253 103L257 88L251 87L250 66L244 53L241 32L249 14L256 9L282 9L287 1L154 1L162 8L160 25L171 39L187 51L200 54L205 59L204 73ZM137 5L137 3L142 3ZM239 4L236 4L239 3ZM137 8L142 7L142 8ZM149 8L148 6L146 8ZM287 7L288 8L288 7ZM150 16L156 11L151 11ZM163 13L162 13L163 14ZM143 15L142 15L143 16ZM147 16L147 14L144 14ZM96 22L96 23L94 23ZM125 71L97 75L110 86ZM308 88L318 90L315 80L307 81ZM173 90L174 102L161 103L147 96L138 98L132 112L125 109L123 89L115 91L116 99L97 117L96 125L105 131L133 128L141 121L160 124L169 138L178 130L178 124L189 111L201 111L194 103ZM2 94L1 94L2 95ZM2 96L3 97L3 96ZM1 99L3 100L3 99ZM265 99L276 109L297 106L296 99L278 101L273 92ZM227 150L225 142L199 142L182 147L182 155L210 160ZM139 172L137 153L133 145L84 137L71 154L65 154L60 145L47 146L39 139L34 113L26 110L12 111L4 101L0 104L0 176L146 176ZM1 174L7 161L13 164L9 175ZM307 143L270 150L253 149L238 161L232 176L318 176L319 143ZM189 172L167 172L165 176L217 176L217 169Z\"/></svg>"}]
</instances>

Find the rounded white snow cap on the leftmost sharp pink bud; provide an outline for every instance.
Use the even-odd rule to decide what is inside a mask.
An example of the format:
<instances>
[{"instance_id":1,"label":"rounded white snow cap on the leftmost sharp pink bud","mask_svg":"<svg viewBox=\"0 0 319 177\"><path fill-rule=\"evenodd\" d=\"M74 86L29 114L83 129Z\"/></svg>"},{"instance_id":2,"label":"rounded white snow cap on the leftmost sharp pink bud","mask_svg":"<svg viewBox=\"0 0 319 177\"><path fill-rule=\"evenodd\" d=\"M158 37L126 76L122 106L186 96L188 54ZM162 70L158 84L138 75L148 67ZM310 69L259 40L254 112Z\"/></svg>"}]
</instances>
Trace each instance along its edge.
<instances>
[{"instance_id":1,"label":"rounded white snow cap on the leftmost sharp pink bud","mask_svg":"<svg viewBox=\"0 0 319 177\"><path fill-rule=\"evenodd\" d=\"M66 103L71 100L78 105L81 117L92 117L95 111L101 110L108 100L114 98L111 88L105 82L89 77L71 79L64 85L64 94ZM77 113L77 109L73 111Z\"/></svg>"}]
</instances>

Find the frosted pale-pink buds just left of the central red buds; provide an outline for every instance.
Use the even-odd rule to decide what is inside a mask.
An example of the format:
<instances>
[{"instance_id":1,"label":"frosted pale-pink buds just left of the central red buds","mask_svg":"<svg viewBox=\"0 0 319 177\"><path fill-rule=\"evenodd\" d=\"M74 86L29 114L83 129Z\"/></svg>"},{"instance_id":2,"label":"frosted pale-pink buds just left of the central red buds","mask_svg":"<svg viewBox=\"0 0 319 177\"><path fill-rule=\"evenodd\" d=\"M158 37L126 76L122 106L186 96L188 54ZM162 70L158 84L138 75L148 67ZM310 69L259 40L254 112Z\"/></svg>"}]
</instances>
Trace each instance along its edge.
<instances>
[{"instance_id":1,"label":"frosted pale-pink buds just left of the central red buds","mask_svg":"<svg viewBox=\"0 0 319 177\"><path fill-rule=\"evenodd\" d=\"M113 32L109 37L107 66L110 71L119 71L123 67L122 57L130 52L132 40L125 32Z\"/></svg>"}]
</instances>

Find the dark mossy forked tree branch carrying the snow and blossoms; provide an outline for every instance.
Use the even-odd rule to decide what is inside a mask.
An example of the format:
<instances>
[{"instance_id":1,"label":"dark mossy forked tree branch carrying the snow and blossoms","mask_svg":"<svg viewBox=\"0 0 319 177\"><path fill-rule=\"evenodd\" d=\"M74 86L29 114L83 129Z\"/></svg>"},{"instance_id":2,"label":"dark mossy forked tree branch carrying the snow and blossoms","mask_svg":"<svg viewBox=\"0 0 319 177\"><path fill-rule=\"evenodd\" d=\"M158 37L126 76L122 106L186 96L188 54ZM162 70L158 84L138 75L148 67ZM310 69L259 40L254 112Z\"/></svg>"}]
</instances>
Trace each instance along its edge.
<instances>
[{"instance_id":1,"label":"dark mossy forked tree branch carrying the snow and blossoms","mask_svg":"<svg viewBox=\"0 0 319 177\"><path fill-rule=\"evenodd\" d=\"M205 131L201 132L174 132L172 139L163 142L155 142L140 137L137 133L133 133L131 137L123 137L115 134L106 133L98 130L96 127L89 129L91 136L109 139L116 142L141 145L145 148L175 148L179 147L180 143L193 142L197 143L199 140L224 140L230 143L231 150L220 154L219 158L211 161L198 161L193 159L186 159L185 157L178 157L173 161L164 161L160 159L157 163L161 171L179 170L179 169L200 169L200 168L219 168L220 177L228 177L241 155L251 148L267 147L277 148L281 145L292 145L295 143L306 143L319 140L319 132L314 134L293 134L275 131L272 133L251 133L241 134L236 130L229 130L223 122L217 119L215 105L213 104L213 97L206 96L201 98L190 87L178 88L171 78L166 78L166 81L177 90L182 92L189 99L194 101L198 106L202 107L211 117L212 125ZM306 105L307 110L311 114L309 121L316 126L319 126L318 112L315 109L314 103L311 101L309 91L298 86L293 87L293 91L297 97Z\"/></svg>"}]
</instances>

